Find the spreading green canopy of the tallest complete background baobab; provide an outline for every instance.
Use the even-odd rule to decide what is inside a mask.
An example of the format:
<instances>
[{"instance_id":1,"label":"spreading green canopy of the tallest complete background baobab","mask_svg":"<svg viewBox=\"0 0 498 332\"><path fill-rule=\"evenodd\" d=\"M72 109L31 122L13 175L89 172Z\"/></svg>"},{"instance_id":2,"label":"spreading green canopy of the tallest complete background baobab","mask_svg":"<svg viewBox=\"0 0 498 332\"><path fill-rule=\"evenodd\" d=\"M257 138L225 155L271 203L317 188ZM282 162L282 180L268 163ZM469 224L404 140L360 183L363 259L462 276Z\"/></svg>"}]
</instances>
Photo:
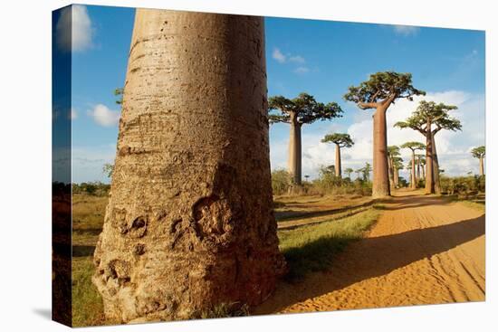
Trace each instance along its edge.
<instances>
[{"instance_id":1,"label":"spreading green canopy of the tallest complete background baobab","mask_svg":"<svg viewBox=\"0 0 498 332\"><path fill-rule=\"evenodd\" d=\"M383 71L371 74L369 81L351 86L344 99L358 104L360 109L375 109L385 102L393 103L399 98L413 100L413 96L426 95L412 85L412 74Z\"/></svg>"}]
</instances>

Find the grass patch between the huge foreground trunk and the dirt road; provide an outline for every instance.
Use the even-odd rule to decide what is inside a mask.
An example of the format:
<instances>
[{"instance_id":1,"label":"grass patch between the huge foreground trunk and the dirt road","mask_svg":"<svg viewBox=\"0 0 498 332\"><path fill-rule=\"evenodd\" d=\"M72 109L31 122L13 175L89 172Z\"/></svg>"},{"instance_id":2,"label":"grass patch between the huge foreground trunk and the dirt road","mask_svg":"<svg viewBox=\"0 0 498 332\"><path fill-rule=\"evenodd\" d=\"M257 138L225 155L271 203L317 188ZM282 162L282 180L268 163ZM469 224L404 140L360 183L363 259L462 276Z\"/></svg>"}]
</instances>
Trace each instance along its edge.
<instances>
[{"instance_id":1,"label":"grass patch between the huge foreground trunk and the dirt road","mask_svg":"<svg viewBox=\"0 0 498 332\"><path fill-rule=\"evenodd\" d=\"M341 220L279 231L279 247L289 266L286 279L297 281L309 272L330 268L335 255L361 239L377 221L379 207Z\"/></svg>"}]
</instances>

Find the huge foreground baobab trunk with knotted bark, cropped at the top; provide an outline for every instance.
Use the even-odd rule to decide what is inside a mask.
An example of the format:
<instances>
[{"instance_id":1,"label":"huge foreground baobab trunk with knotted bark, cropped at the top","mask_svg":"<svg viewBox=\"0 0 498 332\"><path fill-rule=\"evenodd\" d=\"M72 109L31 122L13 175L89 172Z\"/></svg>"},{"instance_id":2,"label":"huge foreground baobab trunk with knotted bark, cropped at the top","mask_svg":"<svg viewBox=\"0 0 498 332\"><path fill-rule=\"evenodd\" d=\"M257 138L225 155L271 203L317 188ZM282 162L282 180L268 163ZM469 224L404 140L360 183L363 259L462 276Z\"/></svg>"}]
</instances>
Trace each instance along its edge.
<instances>
[{"instance_id":1,"label":"huge foreground baobab trunk with knotted bark, cropped at the top","mask_svg":"<svg viewBox=\"0 0 498 332\"><path fill-rule=\"evenodd\" d=\"M94 256L108 318L191 318L273 291L265 72L260 17L137 10Z\"/></svg>"}]
</instances>

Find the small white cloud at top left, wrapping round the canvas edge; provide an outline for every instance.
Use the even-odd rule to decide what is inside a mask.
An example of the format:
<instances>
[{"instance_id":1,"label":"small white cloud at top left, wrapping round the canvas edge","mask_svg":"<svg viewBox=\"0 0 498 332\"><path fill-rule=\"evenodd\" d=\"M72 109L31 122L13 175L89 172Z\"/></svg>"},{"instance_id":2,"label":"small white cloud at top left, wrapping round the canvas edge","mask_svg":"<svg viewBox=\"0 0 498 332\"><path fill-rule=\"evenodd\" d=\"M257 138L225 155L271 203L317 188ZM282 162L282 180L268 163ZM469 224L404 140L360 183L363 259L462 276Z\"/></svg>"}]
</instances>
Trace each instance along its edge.
<instances>
[{"instance_id":1,"label":"small white cloud at top left, wrapping round the canvas edge","mask_svg":"<svg viewBox=\"0 0 498 332\"><path fill-rule=\"evenodd\" d=\"M92 45L91 18L84 5L72 5L62 9L55 26L57 45L64 52L81 52Z\"/></svg>"}]
</instances>

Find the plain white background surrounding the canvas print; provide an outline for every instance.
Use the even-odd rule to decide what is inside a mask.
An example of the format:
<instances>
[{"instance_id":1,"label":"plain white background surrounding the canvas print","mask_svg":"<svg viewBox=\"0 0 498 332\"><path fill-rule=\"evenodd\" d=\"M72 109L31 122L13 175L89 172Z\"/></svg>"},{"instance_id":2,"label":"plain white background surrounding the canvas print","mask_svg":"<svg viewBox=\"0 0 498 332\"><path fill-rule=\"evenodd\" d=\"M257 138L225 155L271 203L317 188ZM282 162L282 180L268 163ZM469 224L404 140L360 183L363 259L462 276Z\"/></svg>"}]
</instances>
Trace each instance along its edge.
<instances>
[{"instance_id":1,"label":"plain white background surrounding the canvas print","mask_svg":"<svg viewBox=\"0 0 498 332\"><path fill-rule=\"evenodd\" d=\"M496 162L498 102L496 8L493 1L87 1L218 13L321 18L486 30L486 302L331 313L211 319L102 331L361 329L381 331L496 330ZM0 8L0 329L58 331L51 306L51 11L65 1L4 1ZM494 14L494 15L493 15ZM494 23L493 23L494 21ZM361 43L360 41L358 43ZM340 45L337 45L340 52ZM368 52L365 50L365 52ZM431 52L431 50L427 50ZM493 206L494 205L494 206ZM97 330L95 327L86 330Z\"/></svg>"}]
</instances>

